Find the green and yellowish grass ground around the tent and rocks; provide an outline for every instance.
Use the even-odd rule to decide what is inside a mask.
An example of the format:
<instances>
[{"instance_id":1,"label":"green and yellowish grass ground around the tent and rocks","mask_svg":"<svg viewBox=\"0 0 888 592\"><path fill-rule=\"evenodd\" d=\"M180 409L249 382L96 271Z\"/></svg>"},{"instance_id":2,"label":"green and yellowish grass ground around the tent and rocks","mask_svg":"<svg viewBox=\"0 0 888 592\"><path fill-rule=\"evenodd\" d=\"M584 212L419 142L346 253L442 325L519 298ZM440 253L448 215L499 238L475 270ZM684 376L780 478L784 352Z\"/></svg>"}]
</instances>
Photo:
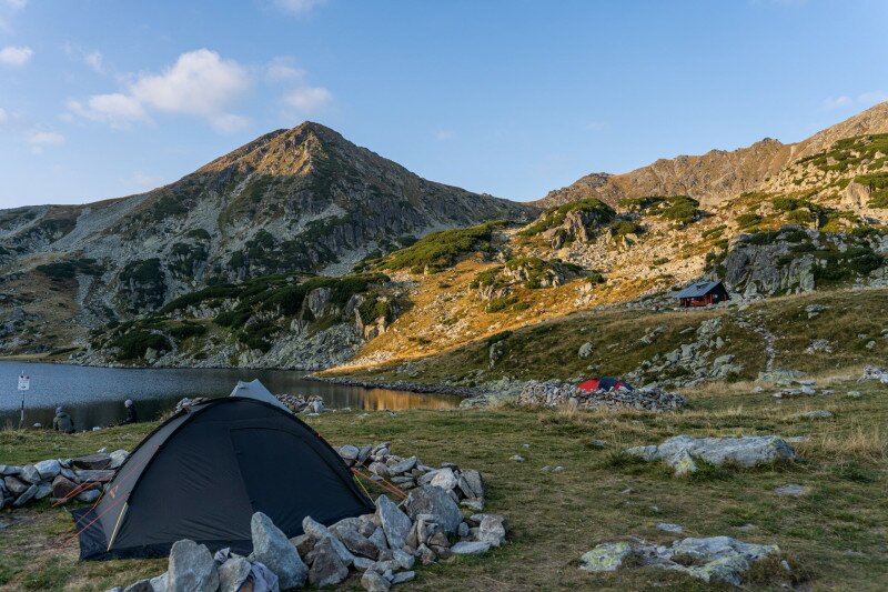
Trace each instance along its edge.
<instances>
[{"instance_id":1,"label":"green and yellowish grass ground around the tent and rocks","mask_svg":"<svg viewBox=\"0 0 888 592\"><path fill-rule=\"evenodd\" d=\"M824 383L824 380L821 380ZM669 543L656 530L675 522L685 535L726 534L776 543L803 589L884 590L888 585L888 389L836 379L836 393L778 401L749 384L715 385L686 393L689 405L674 414L634 411L533 411L511 407L487 411L335 412L309 419L334 444L391 441L397 454L426 463L450 461L480 469L488 484L487 511L508 515L509 542L487 555L420 568L405 590L709 589L655 569L594 575L577 569L596 543L630 535ZM847 395L857 390L860 398ZM827 409L828 420L798 414ZM70 456L108 446L132 449L153 424L113 428L72 437L0 432L0 462L24 463ZM662 464L620 454L626 446L670 435L809 435L796 444L804 458L789 466L737 471L708 468L675 478ZM604 449L593 440L606 442ZM528 446L525 448L525 444ZM521 454L527 460L508 460ZM562 465L561 473L543 473ZM810 488L801 498L773 493L775 486ZM24 590L107 590L165 570L163 560L78 563L77 543L56 541L73 533L65 510L40 503L0 512L0 583ZM750 575L751 589L777 589L790 578L768 566ZM356 580L344 589L360 589Z\"/></svg>"}]
</instances>

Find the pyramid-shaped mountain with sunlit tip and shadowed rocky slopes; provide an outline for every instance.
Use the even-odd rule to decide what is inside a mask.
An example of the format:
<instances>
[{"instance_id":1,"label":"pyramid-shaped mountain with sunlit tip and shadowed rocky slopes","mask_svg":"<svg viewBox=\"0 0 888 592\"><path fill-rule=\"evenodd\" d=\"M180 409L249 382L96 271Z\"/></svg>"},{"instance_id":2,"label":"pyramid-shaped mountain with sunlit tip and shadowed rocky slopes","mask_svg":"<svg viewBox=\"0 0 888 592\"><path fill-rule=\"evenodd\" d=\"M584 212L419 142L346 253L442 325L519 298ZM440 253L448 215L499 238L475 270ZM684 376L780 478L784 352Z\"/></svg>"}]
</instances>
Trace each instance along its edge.
<instances>
[{"instance_id":1,"label":"pyramid-shaped mountain with sunlit tip and shadowed rocky slopes","mask_svg":"<svg viewBox=\"0 0 888 592\"><path fill-rule=\"evenodd\" d=\"M148 193L0 211L0 290L37 270L71 293L77 323L92 327L202 285L343 273L434 230L534 213L427 181L305 122Z\"/></svg>"}]
</instances>

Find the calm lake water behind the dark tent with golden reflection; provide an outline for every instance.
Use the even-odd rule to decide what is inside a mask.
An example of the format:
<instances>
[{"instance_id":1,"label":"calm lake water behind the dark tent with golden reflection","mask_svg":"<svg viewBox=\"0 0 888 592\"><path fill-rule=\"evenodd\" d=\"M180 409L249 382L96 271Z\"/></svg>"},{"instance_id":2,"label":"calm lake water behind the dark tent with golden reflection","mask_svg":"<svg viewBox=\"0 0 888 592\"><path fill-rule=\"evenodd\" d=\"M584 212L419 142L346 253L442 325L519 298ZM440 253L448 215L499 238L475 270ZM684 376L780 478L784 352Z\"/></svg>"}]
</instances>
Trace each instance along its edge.
<instances>
[{"instance_id":1,"label":"calm lake water behind the dark tent with golden reflection","mask_svg":"<svg viewBox=\"0 0 888 592\"><path fill-rule=\"evenodd\" d=\"M123 401L132 399L142 421L153 420L183 397L228 397L239 380L259 379L275 394L320 394L331 409L451 409L460 399L387 389L342 387L305 380L303 372L248 369L123 369L0 361L0 425L18 425L21 393L18 375L31 377L24 393L26 425L52 425L63 407L78 430L110 425L123 419Z\"/></svg>"}]
</instances>

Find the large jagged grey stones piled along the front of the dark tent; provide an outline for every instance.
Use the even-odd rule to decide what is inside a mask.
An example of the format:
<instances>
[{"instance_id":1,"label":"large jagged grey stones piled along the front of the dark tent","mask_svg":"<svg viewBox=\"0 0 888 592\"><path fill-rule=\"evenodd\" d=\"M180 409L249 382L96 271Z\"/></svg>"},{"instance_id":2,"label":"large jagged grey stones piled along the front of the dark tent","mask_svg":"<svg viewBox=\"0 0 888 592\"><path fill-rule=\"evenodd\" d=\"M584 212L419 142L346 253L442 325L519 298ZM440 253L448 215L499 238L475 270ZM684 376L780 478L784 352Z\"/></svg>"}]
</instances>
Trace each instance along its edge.
<instances>
[{"instance_id":1,"label":"large jagged grey stones piled along the front of the dark tent","mask_svg":"<svg viewBox=\"0 0 888 592\"><path fill-rule=\"evenodd\" d=\"M380 495L374 513L346 518L330 526L306 516L303 534L290 540L269 516L256 512L251 521L250 555L221 550L213 558L204 545L178 541L170 552L167 573L113 592L276 592L306 584L335 586L352 574L360 576L365 590L387 592L415 578L417 561L427 565L452 555L484 553L505 543L505 516L465 516L452 491L417 485L400 504Z\"/></svg>"}]
</instances>

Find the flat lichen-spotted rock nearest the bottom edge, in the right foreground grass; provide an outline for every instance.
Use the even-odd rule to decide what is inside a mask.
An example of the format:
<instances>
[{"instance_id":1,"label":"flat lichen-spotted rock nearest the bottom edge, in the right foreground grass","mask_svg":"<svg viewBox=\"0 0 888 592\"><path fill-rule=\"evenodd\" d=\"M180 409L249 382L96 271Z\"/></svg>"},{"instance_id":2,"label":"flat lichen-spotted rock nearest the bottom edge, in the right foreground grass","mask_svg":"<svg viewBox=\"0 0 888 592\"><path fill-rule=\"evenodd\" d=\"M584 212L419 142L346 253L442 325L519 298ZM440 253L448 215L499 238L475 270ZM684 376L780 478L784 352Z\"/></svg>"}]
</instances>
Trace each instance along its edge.
<instances>
[{"instance_id":1,"label":"flat lichen-spotted rock nearest the bottom edge, in the right foreground grass","mask_svg":"<svg viewBox=\"0 0 888 592\"><path fill-rule=\"evenodd\" d=\"M616 571L622 566L655 566L699 578L704 582L739 586L743 575L754 563L779 555L775 544L744 543L730 536L683 539L672 546L657 545L643 540L609 542L597 545L581 558L581 570L589 572ZM787 574L789 563L781 561Z\"/></svg>"}]
</instances>

